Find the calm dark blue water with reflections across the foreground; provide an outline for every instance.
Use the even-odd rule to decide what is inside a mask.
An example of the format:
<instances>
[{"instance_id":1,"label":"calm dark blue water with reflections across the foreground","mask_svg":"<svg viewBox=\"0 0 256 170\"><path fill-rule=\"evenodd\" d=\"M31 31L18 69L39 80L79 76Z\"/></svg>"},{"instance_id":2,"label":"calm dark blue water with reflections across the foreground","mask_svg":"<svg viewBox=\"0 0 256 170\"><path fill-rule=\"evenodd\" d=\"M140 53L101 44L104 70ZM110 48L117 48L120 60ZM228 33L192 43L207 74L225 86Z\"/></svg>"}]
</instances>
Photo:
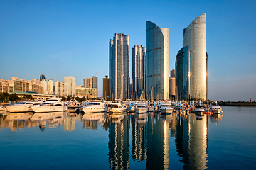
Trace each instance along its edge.
<instances>
[{"instance_id":1,"label":"calm dark blue water with reflections across the foreground","mask_svg":"<svg viewBox=\"0 0 256 170\"><path fill-rule=\"evenodd\" d=\"M256 169L256 108L0 115L0 169Z\"/></svg>"}]
</instances>

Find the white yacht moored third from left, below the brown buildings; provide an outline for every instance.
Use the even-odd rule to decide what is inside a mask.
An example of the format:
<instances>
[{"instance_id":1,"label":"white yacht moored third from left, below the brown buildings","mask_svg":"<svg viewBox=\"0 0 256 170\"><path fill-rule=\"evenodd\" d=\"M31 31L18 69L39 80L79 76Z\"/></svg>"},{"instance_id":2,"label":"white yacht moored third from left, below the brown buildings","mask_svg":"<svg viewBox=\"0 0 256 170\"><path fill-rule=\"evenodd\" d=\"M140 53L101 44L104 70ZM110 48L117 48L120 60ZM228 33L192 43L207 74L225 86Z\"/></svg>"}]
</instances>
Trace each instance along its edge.
<instances>
[{"instance_id":1,"label":"white yacht moored third from left, below the brown buildings","mask_svg":"<svg viewBox=\"0 0 256 170\"><path fill-rule=\"evenodd\" d=\"M87 106L82 107L84 113L99 113L107 111L107 106L102 102L90 102Z\"/></svg>"}]
</instances>

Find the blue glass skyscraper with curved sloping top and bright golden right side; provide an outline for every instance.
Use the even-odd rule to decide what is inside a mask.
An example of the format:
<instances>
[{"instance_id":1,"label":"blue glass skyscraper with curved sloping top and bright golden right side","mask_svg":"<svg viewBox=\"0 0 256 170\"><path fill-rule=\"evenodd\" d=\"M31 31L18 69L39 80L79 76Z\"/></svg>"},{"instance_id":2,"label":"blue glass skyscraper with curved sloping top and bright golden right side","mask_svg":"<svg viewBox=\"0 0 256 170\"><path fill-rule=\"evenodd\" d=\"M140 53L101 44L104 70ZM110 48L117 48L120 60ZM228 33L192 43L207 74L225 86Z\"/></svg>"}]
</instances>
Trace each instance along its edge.
<instances>
[{"instance_id":1,"label":"blue glass skyscraper with curved sloping top and bright golden right side","mask_svg":"<svg viewBox=\"0 0 256 170\"><path fill-rule=\"evenodd\" d=\"M169 98L169 28L146 21L146 93Z\"/></svg>"}]
</instances>

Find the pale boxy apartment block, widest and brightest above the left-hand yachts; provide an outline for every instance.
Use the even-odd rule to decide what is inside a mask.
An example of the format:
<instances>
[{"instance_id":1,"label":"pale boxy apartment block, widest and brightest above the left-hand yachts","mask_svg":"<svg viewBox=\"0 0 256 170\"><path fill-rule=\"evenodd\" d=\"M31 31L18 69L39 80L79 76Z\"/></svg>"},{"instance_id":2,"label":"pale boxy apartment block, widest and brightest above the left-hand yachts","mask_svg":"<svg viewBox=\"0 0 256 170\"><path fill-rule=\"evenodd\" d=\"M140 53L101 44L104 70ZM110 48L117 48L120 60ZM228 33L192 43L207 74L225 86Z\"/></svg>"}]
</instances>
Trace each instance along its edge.
<instances>
[{"instance_id":1,"label":"pale boxy apartment block, widest and brightest above the left-hand yachts","mask_svg":"<svg viewBox=\"0 0 256 170\"><path fill-rule=\"evenodd\" d=\"M75 97L75 77L64 77L64 96Z\"/></svg>"}]
</instances>

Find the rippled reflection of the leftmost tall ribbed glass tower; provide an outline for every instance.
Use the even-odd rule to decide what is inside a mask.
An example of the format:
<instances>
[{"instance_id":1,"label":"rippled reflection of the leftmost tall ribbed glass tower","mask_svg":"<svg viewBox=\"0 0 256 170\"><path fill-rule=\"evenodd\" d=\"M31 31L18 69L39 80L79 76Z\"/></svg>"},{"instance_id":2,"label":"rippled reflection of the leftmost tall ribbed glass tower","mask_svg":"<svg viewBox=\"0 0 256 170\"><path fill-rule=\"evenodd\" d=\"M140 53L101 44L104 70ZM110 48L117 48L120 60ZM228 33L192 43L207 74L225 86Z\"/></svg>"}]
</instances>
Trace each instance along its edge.
<instances>
[{"instance_id":1,"label":"rippled reflection of the leftmost tall ribbed glass tower","mask_svg":"<svg viewBox=\"0 0 256 170\"><path fill-rule=\"evenodd\" d=\"M129 169L129 118L123 113L112 113L109 118L110 168Z\"/></svg>"}]
</instances>

